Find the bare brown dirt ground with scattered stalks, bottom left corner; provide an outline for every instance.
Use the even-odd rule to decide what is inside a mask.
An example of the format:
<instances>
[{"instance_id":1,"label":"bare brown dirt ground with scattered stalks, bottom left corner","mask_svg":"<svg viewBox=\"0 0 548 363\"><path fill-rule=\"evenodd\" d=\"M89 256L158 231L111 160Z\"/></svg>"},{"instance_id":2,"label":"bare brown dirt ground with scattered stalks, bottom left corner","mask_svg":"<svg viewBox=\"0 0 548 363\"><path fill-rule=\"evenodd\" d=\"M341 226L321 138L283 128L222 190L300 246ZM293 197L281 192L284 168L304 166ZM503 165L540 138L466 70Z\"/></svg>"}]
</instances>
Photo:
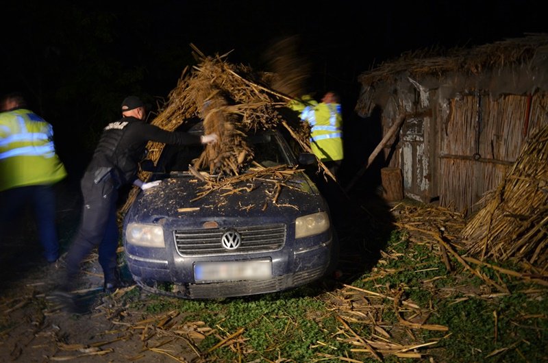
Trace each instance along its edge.
<instances>
[{"instance_id":1,"label":"bare brown dirt ground with scattered stalks, bottom left corner","mask_svg":"<svg viewBox=\"0 0 548 363\"><path fill-rule=\"evenodd\" d=\"M147 296L136 286L108 295L97 259L86 263L77 291L83 314L62 310L51 297L61 273L57 266L28 271L0 300L0 361L190 362L203 329L179 314L150 314L131 308ZM171 329L162 329L169 321ZM175 325L180 325L174 329ZM178 334L173 334L177 331Z\"/></svg>"}]
</instances>

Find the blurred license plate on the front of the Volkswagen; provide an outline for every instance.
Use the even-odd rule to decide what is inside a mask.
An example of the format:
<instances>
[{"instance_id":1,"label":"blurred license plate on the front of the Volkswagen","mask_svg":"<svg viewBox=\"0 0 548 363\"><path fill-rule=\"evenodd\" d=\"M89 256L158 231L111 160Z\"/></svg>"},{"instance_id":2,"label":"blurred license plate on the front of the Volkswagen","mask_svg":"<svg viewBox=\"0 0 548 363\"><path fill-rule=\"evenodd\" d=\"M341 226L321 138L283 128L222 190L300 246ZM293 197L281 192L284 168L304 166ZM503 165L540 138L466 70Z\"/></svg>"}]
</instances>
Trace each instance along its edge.
<instances>
[{"instance_id":1,"label":"blurred license plate on the front of the Volkswagen","mask_svg":"<svg viewBox=\"0 0 548 363\"><path fill-rule=\"evenodd\" d=\"M196 281L229 281L269 279L272 263L264 261L199 262L194 266Z\"/></svg>"}]
</instances>

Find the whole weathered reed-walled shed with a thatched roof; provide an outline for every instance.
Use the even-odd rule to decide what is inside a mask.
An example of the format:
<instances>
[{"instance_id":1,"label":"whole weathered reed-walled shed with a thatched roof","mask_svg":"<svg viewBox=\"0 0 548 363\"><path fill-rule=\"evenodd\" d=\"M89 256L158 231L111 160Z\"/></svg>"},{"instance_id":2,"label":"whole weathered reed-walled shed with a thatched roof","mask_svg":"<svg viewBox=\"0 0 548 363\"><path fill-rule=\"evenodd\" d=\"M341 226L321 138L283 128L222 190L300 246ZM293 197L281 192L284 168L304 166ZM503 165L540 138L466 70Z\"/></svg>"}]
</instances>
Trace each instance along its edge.
<instances>
[{"instance_id":1,"label":"whole weathered reed-walled shed with a thatched roof","mask_svg":"<svg viewBox=\"0 0 548 363\"><path fill-rule=\"evenodd\" d=\"M548 123L548 34L407 53L359 81L360 116L379 109L385 133L404 119L384 156L406 196L470 212Z\"/></svg>"}]
</instances>

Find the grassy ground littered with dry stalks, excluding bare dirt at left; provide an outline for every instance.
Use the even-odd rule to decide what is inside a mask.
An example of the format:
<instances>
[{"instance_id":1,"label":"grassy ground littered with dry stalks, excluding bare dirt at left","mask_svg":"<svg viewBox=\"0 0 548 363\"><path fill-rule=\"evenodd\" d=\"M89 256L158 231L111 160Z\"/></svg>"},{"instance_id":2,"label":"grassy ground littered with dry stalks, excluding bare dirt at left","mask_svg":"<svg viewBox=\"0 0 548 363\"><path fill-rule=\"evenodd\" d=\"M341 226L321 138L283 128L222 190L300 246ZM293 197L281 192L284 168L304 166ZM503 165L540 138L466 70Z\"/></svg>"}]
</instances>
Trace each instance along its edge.
<instances>
[{"instance_id":1,"label":"grassy ground littered with dry stalks, excluding bare dirt at left","mask_svg":"<svg viewBox=\"0 0 548 363\"><path fill-rule=\"evenodd\" d=\"M389 232L369 238L343 227L347 248L337 281L258 297L150 296L130 305L203 322L197 349L212 362L548 361L547 276L532 281L530 266L516 262L466 267L432 234L415 233L434 219L443 229L462 224L433 218L433 210L402 206ZM388 239L379 243L379 236ZM371 258L381 245L379 258ZM463 254L458 245L447 248ZM519 271L524 275L514 276Z\"/></svg>"}]
</instances>

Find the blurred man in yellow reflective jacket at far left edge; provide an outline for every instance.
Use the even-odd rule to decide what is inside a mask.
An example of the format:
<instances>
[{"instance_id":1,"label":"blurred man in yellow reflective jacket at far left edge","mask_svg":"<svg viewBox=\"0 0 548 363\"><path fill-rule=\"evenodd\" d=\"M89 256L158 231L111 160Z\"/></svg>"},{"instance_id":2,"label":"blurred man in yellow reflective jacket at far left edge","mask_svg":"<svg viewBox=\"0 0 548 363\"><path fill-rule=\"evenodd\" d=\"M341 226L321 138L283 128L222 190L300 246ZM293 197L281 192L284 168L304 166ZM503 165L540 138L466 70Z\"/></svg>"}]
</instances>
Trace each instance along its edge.
<instances>
[{"instance_id":1,"label":"blurred man in yellow reflective jacket at far left edge","mask_svg":"<svg viewBox=\"0 0 548 363\"><path fill-rule=\"evenodd\" d=\"M0 99L0 239L10 221L32 205L44 257L55 262L59 242L55 227L53 184L66 177L55 153L53 127L26 108L18 92Z\"/></svg>"}]
</instances>

